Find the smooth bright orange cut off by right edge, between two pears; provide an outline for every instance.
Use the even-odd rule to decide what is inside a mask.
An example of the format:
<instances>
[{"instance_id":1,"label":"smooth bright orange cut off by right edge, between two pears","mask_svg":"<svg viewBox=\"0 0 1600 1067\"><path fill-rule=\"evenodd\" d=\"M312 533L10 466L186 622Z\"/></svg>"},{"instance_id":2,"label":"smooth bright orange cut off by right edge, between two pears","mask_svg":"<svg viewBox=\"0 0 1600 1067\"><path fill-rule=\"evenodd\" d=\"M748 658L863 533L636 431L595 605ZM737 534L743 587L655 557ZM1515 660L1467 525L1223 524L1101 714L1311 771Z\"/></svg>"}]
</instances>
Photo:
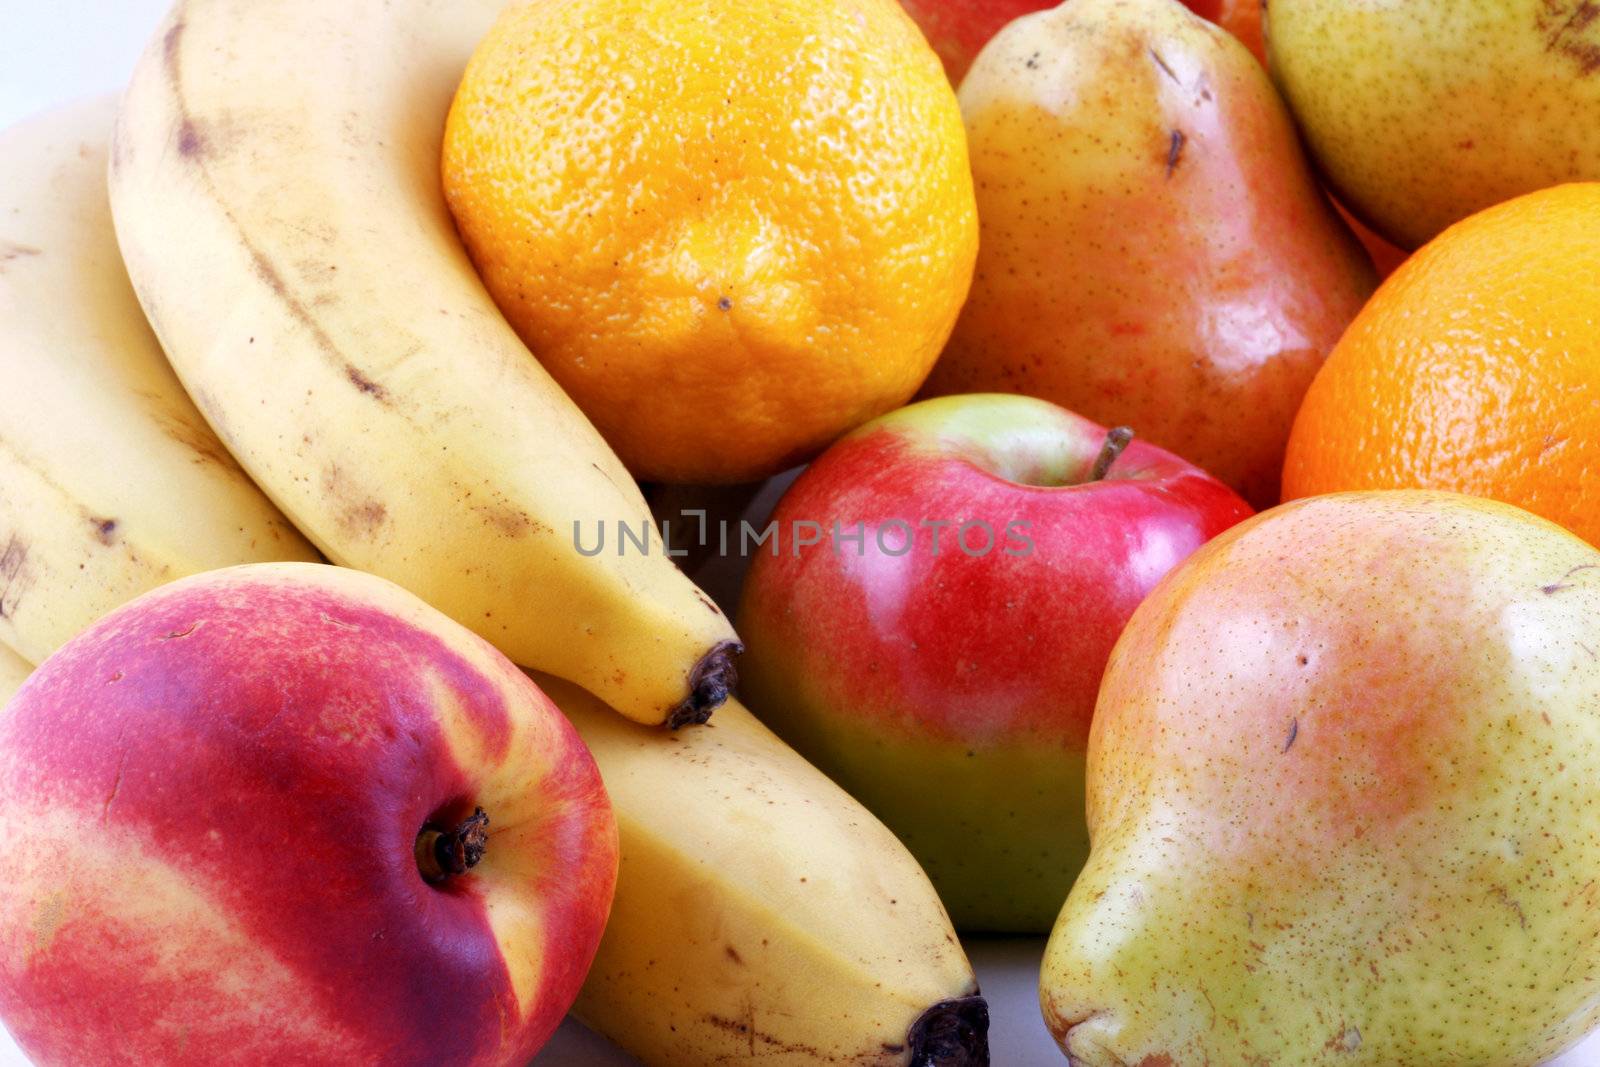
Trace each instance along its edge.
<instances>
[{"instance_id":1,"label":"smooth bright orange cut off by right edge, between two pears","mask_svg":"<svg viewBox=\"0 0 1600 1067\"><path fill-rule=\"evenodd\" d=\"M1494 498L1600 544L1600 184L1458 222L1350 323L1283 496L1387 488Z\"/></svg>"}]
</instances>

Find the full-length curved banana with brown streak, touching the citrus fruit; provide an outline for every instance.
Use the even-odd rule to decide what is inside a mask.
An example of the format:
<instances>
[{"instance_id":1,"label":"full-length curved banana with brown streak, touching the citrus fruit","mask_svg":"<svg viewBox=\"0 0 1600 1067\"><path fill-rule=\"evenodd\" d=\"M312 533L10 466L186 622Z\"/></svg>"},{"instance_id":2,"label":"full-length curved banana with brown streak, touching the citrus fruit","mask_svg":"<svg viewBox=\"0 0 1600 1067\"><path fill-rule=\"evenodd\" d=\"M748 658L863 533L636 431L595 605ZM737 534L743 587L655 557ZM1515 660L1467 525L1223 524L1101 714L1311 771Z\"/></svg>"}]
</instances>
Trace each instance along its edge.
<instances>
[{"instance_id":1,"label":"full-length curved banana with brown streak, touching the citrus fruit","mask_svg":"<svg viewBox=\"0 0 1600 1067\"><path fill-rule=\"evenodd\" d=\"M125 98L117 235L200 410L330 558L630 718L702 721L733 629L501 318L440 192L501 2L181 0Z\"/></svg>"}]
</instances>

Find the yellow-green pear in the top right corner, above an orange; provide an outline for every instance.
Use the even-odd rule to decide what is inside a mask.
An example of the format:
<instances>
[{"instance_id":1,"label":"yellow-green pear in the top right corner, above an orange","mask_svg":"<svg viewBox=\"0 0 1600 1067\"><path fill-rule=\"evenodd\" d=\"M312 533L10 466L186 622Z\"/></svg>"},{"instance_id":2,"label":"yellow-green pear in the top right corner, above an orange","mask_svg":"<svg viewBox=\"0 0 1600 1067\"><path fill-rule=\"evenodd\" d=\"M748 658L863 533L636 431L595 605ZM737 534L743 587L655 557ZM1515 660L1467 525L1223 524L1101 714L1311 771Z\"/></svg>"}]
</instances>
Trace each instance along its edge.
<instances>
[{"instance_id":1,"label":"yellow-green pear in the top right corner, above an orange","mask_svg":"<svg viewBox=\"0 0 1600 1067\"><path fill-rule=\"evenodd\" d=\"M1339 198L1405 248L1600 179L1595 0L1272 0L1267 53Z\"/></svg>"}]
</instances>

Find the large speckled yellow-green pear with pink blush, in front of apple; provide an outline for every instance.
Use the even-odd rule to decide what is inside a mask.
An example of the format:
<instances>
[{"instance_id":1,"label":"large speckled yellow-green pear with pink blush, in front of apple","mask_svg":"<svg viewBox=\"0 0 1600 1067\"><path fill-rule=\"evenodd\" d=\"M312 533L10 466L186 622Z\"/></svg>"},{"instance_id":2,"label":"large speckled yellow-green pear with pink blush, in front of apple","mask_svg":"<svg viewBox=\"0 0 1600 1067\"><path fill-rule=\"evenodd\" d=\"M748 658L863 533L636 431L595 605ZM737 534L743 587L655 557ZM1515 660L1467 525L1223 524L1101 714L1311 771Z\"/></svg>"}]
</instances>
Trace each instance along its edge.
<instances>
[{"instance_id":1,"label":"large speckled yellow-green pear with pink blush, in front of apple","mask_svg":"<svg viewBox=\"0 0 1600 1067\"><path fill-rule=\"evenodd\" d=\"M1533 1067L1597 1022L1600 552L1448 493L1285 504L1139 606L1045 953L1074 1064Z\"/></svg>"}]
</instances>

